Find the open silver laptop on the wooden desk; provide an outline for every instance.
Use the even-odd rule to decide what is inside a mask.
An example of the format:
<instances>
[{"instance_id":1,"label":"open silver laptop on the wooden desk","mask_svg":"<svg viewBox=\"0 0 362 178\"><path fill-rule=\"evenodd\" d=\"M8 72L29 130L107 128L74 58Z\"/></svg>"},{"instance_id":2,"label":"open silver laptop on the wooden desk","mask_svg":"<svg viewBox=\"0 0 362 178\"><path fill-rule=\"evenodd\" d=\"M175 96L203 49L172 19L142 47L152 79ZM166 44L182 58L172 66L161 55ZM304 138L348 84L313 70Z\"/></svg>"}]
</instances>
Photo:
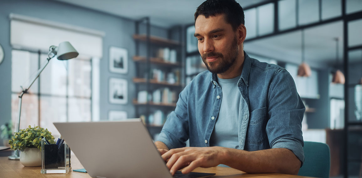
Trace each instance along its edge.
<instances>
[{"instance_id":1,"label":"open silver laptop on the wooden desk","mask_svg":"<svg viewBox=\"0 0 362 178\"><path fill-rule=\"evenodd\" d=\"M54 125L90 177L172 178L140 119ZM178 172L174 177L212 175Z\"/></svg>"}]
</instances>

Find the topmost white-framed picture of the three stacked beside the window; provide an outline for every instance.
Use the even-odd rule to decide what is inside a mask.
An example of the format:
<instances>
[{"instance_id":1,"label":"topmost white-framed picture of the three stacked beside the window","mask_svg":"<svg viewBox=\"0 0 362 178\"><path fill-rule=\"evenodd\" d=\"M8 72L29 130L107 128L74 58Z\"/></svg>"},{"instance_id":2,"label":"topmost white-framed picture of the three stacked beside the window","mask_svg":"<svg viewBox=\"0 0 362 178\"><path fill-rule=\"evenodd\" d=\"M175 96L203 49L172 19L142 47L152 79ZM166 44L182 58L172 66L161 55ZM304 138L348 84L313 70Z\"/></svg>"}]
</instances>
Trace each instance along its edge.
<instances>
[{"instance_id":1,"label":"topmost white-framed picture of the three stacked beside the window","mask_svg":"<svg viewBox=\"0 0 362 178\"><path fill-rule=\"evenodd\" d=\"M126 49L114 46L109 48L109 70L113 73L127 74L128 51Z\"/></svg>"}]
</instances>

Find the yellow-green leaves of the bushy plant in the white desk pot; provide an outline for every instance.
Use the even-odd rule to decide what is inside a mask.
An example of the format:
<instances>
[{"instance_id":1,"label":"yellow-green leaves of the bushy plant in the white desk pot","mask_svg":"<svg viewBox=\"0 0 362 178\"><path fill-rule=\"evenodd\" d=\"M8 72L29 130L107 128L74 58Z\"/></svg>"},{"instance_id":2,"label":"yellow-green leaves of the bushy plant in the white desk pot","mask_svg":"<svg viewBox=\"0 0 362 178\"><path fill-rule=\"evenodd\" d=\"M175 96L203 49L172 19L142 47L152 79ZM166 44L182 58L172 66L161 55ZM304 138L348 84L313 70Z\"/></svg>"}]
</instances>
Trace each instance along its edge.
<instances>
[{"instance_id":1,"label":"yellow-green leaves of the bushy plant in the white desk pot","mask_svg":"<svg viewBox=\"0 0 362 178\"><path fill-rule=\"evenodd\" d=\"M51 135L51 132L48 129L41 128L39 126L21 129L19 132L16 132L15 135L9 140L10 149L12 150L21 150L24 151L25 148L38 148L41 149L41 136L45 137L47 140L51 140L51 143L54 144L54 137Z\"/></svg>"}]
</instances>

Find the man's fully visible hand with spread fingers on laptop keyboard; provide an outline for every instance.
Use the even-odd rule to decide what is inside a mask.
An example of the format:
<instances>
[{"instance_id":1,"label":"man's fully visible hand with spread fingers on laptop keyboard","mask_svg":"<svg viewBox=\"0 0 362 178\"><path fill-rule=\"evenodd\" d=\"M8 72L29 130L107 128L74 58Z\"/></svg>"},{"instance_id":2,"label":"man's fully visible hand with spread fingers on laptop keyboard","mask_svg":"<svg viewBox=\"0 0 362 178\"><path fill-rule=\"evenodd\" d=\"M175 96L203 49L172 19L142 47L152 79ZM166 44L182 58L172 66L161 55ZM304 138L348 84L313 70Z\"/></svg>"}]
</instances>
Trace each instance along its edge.
<instances>
[{"instance_id":1,"label":"man's fully visible hand with spread fingers on laptop keyboard","mask_svg":"<svg viewBox=\"0 0 362 178\"><path fill-rule=\"evenodd\" d=\"M182 174L190 173L196 167L214 167L222 162L224 148L214 147L184 147L171 149L162 154L167 161L166 166L174 175L177 170L182 169Z\"/></svg>"}]
</instances>

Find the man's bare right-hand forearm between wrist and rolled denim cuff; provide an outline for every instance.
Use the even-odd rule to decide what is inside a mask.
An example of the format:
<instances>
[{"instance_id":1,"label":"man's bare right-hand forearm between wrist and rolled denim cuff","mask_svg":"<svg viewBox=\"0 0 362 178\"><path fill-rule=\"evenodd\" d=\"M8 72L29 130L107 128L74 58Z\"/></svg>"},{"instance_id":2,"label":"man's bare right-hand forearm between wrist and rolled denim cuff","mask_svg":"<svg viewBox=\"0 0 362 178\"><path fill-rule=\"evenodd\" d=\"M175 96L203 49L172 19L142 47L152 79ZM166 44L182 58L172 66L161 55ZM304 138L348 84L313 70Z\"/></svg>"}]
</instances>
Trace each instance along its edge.
<instances>
[{"instance_id":1,"label":"man's bare right-hand forearm between wrist and rolled denim cuff","mask_svg":"<svg viewBox=\"0 0 362 178\"><path fill-rule=\"evenodd\" d=\"M247 173L298 174L301 162L286 148L248 152L225 148L221 163Z\"/></svg>"}]
</instances>

